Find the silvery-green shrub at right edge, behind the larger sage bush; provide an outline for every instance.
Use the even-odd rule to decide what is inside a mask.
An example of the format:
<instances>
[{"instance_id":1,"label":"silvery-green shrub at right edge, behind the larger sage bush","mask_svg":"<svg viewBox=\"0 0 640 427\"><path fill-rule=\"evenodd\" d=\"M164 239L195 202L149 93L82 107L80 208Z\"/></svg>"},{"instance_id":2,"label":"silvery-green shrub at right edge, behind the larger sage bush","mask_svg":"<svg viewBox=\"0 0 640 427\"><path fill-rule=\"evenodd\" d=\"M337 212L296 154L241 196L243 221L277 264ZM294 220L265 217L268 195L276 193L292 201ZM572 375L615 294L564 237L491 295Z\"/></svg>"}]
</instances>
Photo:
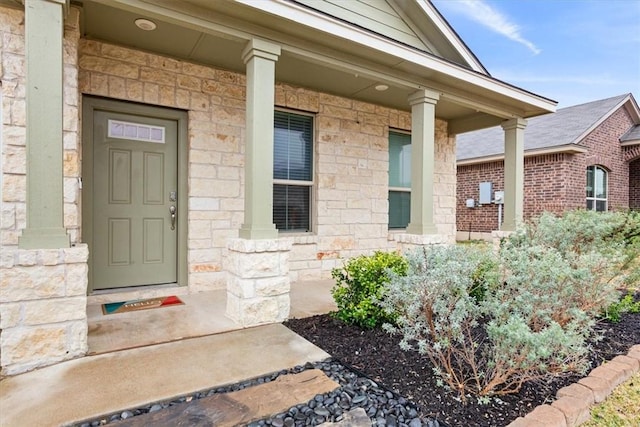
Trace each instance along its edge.
<instances>
[{"instance_id":1,"label":"silvery-green shrub at right edge, behind the larger sage bush","mask_svg":"<svg viewBox=\"0 0 640 427\"><path fill-rule=\"evenodd\" d=\"M531 308L554 311L561 324L565 307L597 316L616 301L615 289L637 274L640 241L632 240L634 228L640 232L640 216L624 212L542 214L501 246L502 264L512 272L507 293L534 283L539 303Z\"/></svg>"}]
</instances>

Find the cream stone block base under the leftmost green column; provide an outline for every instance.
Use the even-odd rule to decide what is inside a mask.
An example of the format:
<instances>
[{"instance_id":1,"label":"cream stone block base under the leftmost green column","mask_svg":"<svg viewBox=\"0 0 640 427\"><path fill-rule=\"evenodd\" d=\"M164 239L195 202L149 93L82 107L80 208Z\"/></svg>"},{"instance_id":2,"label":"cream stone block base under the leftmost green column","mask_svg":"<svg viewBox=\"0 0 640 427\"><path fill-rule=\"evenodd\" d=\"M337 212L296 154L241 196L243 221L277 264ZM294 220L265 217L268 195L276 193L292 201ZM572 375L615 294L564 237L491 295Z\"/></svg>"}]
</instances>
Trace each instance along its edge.
<instances>
[{"instance_id":1,"label":"cream stone block base under the leftmost green column","mask_svg":"<svg viewBox=\"0 0 640 427\"><path fill-rule=\"evenodd\" d=\"M15 375L87 353L87 245L3 250L0 361Z\"/></svg>"}]
</instances>

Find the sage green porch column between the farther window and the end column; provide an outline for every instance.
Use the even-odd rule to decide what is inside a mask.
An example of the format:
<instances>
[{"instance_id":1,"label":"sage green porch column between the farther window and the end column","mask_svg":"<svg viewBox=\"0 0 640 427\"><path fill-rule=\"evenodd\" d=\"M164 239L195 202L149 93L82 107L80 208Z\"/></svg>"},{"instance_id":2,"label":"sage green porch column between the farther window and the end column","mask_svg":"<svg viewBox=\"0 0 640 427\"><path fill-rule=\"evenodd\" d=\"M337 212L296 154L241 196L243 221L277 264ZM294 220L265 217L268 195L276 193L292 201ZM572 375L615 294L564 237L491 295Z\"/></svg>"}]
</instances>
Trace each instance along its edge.
<instances>
[{"instance_id":1,"label":"sage green porch column between the farther window and the end column","mask_svg":"<svg viewBox=\"0 0 640 427\"><path fill-rule=\"evenodd\" d=\"M411 105L411 217L409 234L435 234L433 176L435 169L438 92L423 89L409 97Z\"/></svg>"}]
</instances>

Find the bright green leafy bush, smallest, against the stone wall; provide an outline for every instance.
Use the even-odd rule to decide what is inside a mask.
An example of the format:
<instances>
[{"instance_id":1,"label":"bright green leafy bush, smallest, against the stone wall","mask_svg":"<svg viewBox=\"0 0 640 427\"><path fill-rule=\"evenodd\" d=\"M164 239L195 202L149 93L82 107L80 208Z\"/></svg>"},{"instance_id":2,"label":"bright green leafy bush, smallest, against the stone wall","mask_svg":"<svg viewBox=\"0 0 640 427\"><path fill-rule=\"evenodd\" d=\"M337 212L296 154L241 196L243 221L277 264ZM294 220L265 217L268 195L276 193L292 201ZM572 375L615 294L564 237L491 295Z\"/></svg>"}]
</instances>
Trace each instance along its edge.
<instances>
[{"instance_id":1,"label":"bright green leafy bush, smallest, against the stone wall","mask_svg":"<svg viewBox=\"0 0 640 427\"><path fill-rule=\"evenodd\" d=\"M350 259L344 267L334 268L331 276L336 280L331 289L338 311L338 319L361 328L374 328L394 321L393 313L380 306L382 289L388 283L387 272L403 275L407 261L395 252L377 251L371 256Z\"/></svg>"}]
</instances>

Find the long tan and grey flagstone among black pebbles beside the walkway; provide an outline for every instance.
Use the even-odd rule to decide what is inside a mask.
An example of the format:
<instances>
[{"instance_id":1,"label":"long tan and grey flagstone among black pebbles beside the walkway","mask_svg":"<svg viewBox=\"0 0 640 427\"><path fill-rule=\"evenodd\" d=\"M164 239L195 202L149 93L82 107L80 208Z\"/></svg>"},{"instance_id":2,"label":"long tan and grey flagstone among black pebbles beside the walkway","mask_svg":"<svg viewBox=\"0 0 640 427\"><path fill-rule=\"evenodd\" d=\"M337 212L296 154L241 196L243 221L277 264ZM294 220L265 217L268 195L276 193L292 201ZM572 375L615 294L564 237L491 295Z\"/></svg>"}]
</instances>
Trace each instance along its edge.
<instances>
[{"instance_id":1,"label":"long tan and grey flagstone among black pebbles beside the walkway","mask_svg":"<svg viewBox=\"0 0 640 427\"><path fill-rule=\"evenodd\" d=\"M118 423L126 427L168 425L246 425L284 412L317 394L329 393L339 384L319 369L282 375L274 381L224 394L170 406L156 412L132 417ZM366 414L365 414L366 416Z\"/></svg>"}]
</instances>

